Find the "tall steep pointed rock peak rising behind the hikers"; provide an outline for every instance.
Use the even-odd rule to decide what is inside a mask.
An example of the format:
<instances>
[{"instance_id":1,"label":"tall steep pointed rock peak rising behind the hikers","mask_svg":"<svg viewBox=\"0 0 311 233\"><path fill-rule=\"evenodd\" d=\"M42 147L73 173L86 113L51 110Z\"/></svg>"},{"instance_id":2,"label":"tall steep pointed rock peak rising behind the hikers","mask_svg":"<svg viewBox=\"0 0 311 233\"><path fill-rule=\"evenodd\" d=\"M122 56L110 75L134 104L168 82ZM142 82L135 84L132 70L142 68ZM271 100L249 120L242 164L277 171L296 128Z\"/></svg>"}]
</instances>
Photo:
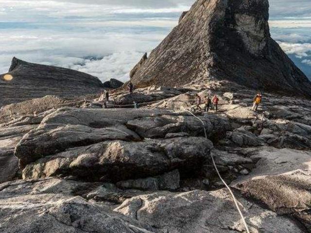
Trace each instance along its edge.
<instances>
[{"instance_id":1,"label":"tall steep pointed rock peak rising behind the hikers","mask_svg":"<svg viewBox=\"0 0 311 233\"><path fill-rule=\"evenodd\" d=\"M311 97L311 83L271 38L268 0L197 0L140 63L136 85L227 80Z\"/></svg>"}]
</instances>

